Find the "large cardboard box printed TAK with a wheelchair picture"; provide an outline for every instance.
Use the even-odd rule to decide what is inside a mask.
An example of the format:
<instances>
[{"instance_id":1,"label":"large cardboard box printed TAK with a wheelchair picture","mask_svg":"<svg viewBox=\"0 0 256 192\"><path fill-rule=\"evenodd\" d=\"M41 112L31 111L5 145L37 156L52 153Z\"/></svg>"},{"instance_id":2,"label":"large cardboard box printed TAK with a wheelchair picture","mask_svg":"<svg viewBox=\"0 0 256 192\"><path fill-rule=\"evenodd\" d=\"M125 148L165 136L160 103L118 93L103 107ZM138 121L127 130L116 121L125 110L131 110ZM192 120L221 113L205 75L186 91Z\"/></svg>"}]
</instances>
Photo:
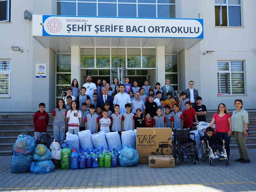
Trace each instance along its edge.
<instances>
[{"instance_id":1,"label":"large cardboard box printed TAK with a wheelchair picture","mask_svg":"<svg viewBox=\"0 0 256 192\"><path fill-rule=\"evenodd\" d=\"M171 128L137 128L138 163L148 163L149 155L172 155Z\"/></svg>"}]
</instances>

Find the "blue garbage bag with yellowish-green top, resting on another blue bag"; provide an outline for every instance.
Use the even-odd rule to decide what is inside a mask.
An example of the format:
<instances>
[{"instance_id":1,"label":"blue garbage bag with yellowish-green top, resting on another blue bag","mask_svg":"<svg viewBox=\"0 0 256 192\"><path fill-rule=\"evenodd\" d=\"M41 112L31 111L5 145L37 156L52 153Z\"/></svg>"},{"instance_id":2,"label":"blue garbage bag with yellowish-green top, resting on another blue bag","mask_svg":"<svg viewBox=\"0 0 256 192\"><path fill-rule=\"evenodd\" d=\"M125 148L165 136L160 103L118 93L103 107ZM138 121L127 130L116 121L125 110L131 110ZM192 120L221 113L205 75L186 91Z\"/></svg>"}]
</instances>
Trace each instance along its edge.
<instances>
[{"instance_id":1,"label":"blue garbage bag with yellowish-green top, resting on another blue bag","mask_svg":"<svg viewBox=\"0 0 256 192\"><path fill-rule=\"evenodd\" d=\"M35 161L51 160L51 158L51 151L43 144L38 144L34 153L32 154L32 159Z\"/></svg>"}]
</instances>

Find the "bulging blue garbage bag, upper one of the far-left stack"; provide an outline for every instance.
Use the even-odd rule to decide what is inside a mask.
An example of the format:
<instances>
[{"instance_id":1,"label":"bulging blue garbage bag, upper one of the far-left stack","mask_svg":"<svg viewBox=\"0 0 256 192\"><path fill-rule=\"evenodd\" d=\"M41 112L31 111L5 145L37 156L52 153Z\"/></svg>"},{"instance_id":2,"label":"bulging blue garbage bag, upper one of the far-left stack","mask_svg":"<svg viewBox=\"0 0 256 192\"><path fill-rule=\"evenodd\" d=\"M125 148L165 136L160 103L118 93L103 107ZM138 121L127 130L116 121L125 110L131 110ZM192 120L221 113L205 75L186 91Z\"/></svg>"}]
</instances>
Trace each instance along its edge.
<instances>
[{"instance_id":1,"label":"bulging blue garbage bag, upper one of the far-left stack","mask_svg":"<svg viewBox=\"0 0 256 192\"><path fill-rule=\"evenodd\" d=\"M30 135L19 135L12 152L14 156L31 155L36 148L36 140Z\"/></svg>"}]
</instances>

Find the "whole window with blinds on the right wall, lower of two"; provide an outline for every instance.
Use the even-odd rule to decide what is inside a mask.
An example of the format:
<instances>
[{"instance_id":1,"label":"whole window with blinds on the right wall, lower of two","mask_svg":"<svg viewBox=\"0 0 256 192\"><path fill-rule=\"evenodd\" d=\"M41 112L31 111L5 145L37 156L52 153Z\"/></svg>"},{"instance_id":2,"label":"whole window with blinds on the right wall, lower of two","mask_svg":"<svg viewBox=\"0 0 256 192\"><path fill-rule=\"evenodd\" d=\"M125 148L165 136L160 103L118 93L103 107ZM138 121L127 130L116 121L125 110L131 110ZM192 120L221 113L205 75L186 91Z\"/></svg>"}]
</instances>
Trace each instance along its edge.
<instances>
[{"instance_id":1,"label":"whole window with blinds on the right wall, lower of two","mask_svg":"<svg viewBox=\"0 0 256 192\"><path fill-rule=\"evenodd\" d=\"M218 93L244 94L244 62L218 62Z\"/></svg>"}]
</instances>

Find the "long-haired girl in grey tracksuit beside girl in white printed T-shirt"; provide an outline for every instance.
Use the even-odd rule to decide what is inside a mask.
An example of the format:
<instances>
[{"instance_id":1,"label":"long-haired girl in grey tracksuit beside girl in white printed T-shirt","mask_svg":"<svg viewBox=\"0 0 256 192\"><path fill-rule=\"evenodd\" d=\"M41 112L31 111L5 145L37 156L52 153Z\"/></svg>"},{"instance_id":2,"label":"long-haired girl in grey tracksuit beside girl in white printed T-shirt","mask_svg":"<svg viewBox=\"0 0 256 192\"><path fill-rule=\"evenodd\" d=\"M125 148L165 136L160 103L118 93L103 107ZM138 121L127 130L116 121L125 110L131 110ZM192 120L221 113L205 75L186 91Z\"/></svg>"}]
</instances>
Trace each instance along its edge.
<instances>
[{"instance_id":1,"label":"long-haired girl in grey tracksuit beside girl in white printed T-shirt","mask_svg":"<svg viewBox=\"0 0 256 192\"><path fill-rule=\"evenodd\" d=\"M63 99L59 99L52 111L53 136L60 146L65 140L67 109Z\"/></svg>"}]
</instances>

